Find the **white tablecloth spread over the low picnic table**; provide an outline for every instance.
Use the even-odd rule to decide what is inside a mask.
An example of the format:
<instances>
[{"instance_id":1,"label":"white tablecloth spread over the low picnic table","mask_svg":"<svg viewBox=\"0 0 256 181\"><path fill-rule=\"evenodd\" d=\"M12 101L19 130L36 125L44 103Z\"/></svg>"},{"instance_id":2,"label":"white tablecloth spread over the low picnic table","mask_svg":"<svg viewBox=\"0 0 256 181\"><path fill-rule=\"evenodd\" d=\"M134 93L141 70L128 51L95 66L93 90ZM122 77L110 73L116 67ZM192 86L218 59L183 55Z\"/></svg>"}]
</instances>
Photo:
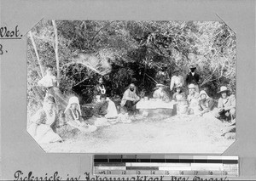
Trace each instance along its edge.
<instances>
[{"instance_id":1,"label":"white tablecloth spread over the low picnic table","mask_svg":"<svg viewBox=\"0 0 256 181\"><path fill-rule=\"evenodd\" d=\"M173 109L173 102L165 102L162 100L140 100L137 102L138 110L153 110L153 109Z\"/></svg>"}]
</instances>

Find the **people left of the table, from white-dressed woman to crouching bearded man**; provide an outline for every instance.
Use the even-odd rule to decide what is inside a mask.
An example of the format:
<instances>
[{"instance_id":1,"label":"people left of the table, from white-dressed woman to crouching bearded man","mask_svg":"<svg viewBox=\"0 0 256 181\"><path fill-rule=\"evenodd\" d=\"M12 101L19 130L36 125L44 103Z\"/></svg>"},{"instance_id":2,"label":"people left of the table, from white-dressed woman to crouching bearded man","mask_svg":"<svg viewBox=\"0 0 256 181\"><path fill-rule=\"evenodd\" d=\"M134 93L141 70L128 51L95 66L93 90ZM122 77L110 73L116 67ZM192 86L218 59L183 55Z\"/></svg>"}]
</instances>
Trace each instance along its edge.
<instances>
[{"instance_id":1,"label":"people left of the table, from white-dressed woman to crouching bearded man","mask_svg":"<svg viewBox=\"0 0 256 181\"><path fill-rule=\"evenodd\" d=\"M119 118L116 105L106 96L106 88L103 85L102 77L98 80L99 84L95 87L95 96L93 99L93 116L89 120L84 120L79 104L79 98L72 96L67 100L59 93L56 88L56 77L52 74L53 67L46 66L46 76L44 76L38 85L46 89L43 107L32 116L28 132L39 143L53 143L63 141L61 133L65 130L72 133L74 130L83 133L92 133L97 127L110 125L109 120ZM128 110L134 110L134 105L139 100L135 93L134 84L130 85L124 93L121 105ZM63 105L67 105L64 111L60 111Z\"/></svg>"}]
</instances>

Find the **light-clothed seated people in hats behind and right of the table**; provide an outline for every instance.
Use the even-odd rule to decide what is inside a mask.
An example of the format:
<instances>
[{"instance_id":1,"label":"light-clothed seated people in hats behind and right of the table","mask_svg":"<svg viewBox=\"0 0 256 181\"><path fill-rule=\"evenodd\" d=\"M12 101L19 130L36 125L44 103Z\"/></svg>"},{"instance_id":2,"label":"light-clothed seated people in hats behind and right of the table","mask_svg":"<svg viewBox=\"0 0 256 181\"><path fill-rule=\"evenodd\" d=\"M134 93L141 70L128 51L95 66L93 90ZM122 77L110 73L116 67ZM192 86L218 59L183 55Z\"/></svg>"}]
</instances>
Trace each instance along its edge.
<instances>
[{"instance_id":1,"label":"light-clothed seated people in hats behind and right of the table","mask_svg":"<svg viewBox=\"0 0 256 181\"><path fill-rule=\"evenodd\" d=\"M157 89L154 91L154 99L162 99L170 101L165 91L165 85L157 84ZM186 95L183 87L177 85L172 95L172 100L177 105L177 114L195 114L203 116L207 112L212 110L214 116L222 121L234 120L236 118L236 98L235 95L228 95L229 90L227 87L222 86L218 93L220 98L218 99L217 109L214 109L214 100L208 96L205 90L201 90L200 93L196 91L195 84L189 84L189 93Z\"/></svg>"}]
</instances>

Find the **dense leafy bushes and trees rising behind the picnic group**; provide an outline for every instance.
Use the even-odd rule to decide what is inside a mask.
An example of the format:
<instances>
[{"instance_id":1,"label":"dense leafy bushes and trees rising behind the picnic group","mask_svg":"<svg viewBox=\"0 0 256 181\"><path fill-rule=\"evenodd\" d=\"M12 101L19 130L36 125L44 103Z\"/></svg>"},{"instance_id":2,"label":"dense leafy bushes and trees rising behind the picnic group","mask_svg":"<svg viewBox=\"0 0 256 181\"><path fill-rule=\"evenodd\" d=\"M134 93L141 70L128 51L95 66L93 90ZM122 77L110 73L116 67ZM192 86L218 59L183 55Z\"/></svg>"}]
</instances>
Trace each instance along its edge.
<instances>
[{"instance_id":1,"label":"dense leafy bushes and trees rising behind the picnic group","mask_svg":"<svg viewBox=\"0 0 256 181\"><path fill-rule=\"evenodd\" d=\"M221 85L236 91L236 35L218 21L93 21L56 20L60 59L60 89L77 93L88 103L103 76L108 96L119 95L135 82L150 95L155 75L163 67L183 76L196 63L202 88L216 96ZM55 33L50 20L32 29L42 64L56 67ZM33 87L44 76L31 38L27 42L28 103L39 105ZM57 71L55 69L55 71ZM156 80L157 81L157 80Z\"/></svg>"}]
</instances>

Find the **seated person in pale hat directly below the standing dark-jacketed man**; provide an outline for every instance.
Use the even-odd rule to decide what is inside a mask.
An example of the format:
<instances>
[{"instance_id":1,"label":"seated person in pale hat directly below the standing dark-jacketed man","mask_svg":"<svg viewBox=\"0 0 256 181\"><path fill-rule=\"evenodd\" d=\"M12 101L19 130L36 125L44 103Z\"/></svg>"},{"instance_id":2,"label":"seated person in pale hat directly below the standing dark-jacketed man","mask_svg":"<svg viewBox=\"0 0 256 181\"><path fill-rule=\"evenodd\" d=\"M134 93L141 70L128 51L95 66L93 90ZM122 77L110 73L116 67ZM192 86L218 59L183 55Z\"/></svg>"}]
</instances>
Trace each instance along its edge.
<instances>
[{"instance_id":1,"label":"seated person in pale hat directly below the standing dark-jacketed man","mask_svg":"<svg viewBox=\"0 0 256 181\"><path fill-rule=\"evenodd\" d=\"M198 114L200 112L200 105L199 105L199 93L195 91L195 84L191 83L189 85L189 95L188 95L188 102L189 102L189 110L188 114Z\"/></svg>"}]
</instances>

